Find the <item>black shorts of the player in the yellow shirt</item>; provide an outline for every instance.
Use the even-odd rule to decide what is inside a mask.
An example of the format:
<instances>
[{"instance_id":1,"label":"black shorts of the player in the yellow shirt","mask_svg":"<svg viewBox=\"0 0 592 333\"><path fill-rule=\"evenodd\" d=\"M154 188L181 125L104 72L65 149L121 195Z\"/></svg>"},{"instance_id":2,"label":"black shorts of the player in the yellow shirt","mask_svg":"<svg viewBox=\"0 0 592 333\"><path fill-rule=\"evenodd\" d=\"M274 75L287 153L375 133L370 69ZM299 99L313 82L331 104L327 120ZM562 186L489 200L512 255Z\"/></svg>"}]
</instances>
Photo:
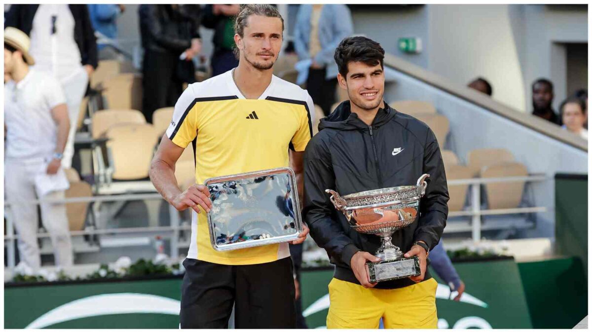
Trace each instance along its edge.
<instances>
[{"instance_id":1,"label":"black shorts of the player in the yellow shirt","mask_svg":"<svg viewBox=\"0 0 592 333\"><path fill-rule=\"evenodd\" d=\"M295 328L292 260L221 265L185 259L181 328Z\"/></svg>"}]
</instances>

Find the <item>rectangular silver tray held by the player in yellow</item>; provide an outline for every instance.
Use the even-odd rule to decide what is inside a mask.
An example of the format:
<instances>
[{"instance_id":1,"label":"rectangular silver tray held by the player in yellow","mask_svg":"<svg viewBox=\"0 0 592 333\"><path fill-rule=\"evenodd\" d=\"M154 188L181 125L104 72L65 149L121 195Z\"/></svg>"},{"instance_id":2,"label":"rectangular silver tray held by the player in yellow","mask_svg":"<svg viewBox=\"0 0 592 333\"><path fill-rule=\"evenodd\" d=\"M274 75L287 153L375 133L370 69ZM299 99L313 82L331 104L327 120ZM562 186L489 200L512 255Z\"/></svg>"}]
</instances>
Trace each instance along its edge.
<instances>
[{"instance_id":1,"label":"rectangular silver tray held by the player in yellow","mask_svg":"<svg viewBox=\"0 0 592 333\"><path fill-rule=\"evenodd\" d=\"M210 241L217 251L294 241L302 232L296 177L276 168L209 178Z\"/></svg>"}]
</instances>

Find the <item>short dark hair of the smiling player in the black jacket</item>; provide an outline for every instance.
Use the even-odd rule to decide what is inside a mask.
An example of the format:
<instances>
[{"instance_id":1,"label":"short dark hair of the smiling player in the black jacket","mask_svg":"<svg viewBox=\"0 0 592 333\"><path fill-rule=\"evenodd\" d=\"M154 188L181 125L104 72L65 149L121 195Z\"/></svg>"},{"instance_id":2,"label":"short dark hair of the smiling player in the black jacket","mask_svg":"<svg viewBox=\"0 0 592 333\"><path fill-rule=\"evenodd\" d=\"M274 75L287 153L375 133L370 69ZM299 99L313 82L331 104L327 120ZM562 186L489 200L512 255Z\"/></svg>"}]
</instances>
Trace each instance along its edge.
<instances>
[{"instance_id":1,"label":"short dark hair of the smiling player in the black jacket","mask_svg":"<svg viewBox=\"0 0 592 333\"><path fill-rule=\"evenodd\" d=\"M368 66L380 64L384 69L384 49L366 37L347 37L339 43L333 56L339 68L339 73L346 78L349 62L363 62Z\"/></svg>"}]
</instances>

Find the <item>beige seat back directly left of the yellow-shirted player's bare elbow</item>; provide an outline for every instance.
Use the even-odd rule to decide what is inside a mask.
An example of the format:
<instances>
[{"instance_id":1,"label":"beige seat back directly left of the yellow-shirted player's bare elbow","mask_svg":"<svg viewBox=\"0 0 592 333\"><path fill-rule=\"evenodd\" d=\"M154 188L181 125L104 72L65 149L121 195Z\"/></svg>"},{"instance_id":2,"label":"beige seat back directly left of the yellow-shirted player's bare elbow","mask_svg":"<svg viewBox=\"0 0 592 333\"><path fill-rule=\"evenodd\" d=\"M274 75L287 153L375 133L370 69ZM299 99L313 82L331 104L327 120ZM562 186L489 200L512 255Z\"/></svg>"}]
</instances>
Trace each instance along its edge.
<instances>
[{"instance_id":1,"label":"beige seat back directly left of the yellow-shirted player's bare elbow","mask_svg":"<svg viewBox=\"0 0 592 333\"><path fill-rule=\"evenodd\" d=\"M148 177L150 162L157 142L151 124L121 124L105 133L110 139L110 165L114 180L140 180Z\"/></svg>"}]
</instances>

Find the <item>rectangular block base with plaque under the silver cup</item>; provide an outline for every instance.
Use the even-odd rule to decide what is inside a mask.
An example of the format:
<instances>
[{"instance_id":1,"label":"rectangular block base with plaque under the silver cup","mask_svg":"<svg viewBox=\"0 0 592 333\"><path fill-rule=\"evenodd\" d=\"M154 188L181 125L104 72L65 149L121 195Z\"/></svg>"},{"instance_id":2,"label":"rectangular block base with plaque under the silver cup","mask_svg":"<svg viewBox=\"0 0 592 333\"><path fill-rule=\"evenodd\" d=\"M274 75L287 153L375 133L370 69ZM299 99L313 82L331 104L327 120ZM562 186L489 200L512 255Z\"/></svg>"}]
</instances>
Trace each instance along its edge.
<instances>
[{"instance_id":1,"label":"rectangular block base with plaque under the silver cup","mask_svg":"<svg viewBox=\"0 0 592 333\"><path fill-rule=\"evenodd\" d=\"M371 283L419 276L422 274L417 255L398 260L368 262L367 265Z\"/></svg>"}]
</instances>

